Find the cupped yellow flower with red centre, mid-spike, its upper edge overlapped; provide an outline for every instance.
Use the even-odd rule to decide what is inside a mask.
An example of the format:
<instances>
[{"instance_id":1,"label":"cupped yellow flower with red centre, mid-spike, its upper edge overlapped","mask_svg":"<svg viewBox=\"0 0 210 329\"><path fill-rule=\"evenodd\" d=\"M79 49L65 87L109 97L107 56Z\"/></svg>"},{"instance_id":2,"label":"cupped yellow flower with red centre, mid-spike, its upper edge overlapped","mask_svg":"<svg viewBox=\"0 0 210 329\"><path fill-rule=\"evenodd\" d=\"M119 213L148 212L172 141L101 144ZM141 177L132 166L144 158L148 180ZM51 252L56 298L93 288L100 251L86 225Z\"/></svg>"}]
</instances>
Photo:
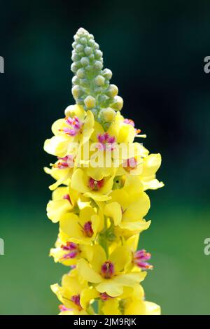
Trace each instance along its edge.
<instances>
[{"instance_id":1,"label":"cupped yellow flower with red centre, mid-spike, its upper edge overlapped","mask_svg":"<svg viewBox=\"0 0 210 329\"><path fill-rule=\"evenodd\" d=\"M91 197L96 201L106 201L111 199L114 174L106 176L99 181L88 176L84 169L76 169L71 177L71 188L83 193L85 197Z\"/></svg>"}]
</instances>

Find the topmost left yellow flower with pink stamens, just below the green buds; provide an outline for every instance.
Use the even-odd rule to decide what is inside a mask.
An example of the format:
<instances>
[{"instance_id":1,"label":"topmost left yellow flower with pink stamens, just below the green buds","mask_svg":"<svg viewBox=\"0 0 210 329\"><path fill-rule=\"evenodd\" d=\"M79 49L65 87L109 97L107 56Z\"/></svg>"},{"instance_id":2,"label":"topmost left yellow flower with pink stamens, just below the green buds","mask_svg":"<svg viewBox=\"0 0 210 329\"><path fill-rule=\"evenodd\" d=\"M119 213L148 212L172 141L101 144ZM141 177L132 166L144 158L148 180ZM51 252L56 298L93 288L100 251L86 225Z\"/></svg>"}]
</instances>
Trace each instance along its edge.
<instances>
[{"instance_id":1,"label":"topmost left yellow flower with pink stamens, just below the green buds","mask_svg":"<svg viewBox=\"0 0 210 329\"><path fill-rule=\"evenodd\" d=\"M76 155L77 144L83 144L90 139L93 126L92 111L86 112L82 106L74 105L71 116L53 123L52 132L55 136L45 141L44 150L60 158Z\"/></svg>"}]
</instances>

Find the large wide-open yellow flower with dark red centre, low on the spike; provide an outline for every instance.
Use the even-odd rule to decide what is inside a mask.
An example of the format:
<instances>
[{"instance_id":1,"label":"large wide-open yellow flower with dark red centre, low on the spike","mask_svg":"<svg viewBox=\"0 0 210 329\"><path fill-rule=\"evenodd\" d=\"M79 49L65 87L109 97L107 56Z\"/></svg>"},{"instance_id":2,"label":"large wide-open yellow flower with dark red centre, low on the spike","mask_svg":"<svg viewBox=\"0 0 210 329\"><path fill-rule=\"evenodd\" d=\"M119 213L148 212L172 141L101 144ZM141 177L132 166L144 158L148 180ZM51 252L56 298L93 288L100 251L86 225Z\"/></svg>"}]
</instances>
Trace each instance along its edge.
<instances>
[{"instance_id":1,"label":"large wide-open yellow flower with dark red centre, low on the spike","mask_svg":"<svg viewBox=\"0 0 210 329\"><path fill-rule=\"evenodd\" d=\"M96 245L90 262L78 260L78 274L86 281L94 283L99 293L116 297L123 293L124 287L134 287L146 276L146 272L126 272L131 259L126 246L116 248L107 258L104 248Z\"/></svg>"}]
</instances>

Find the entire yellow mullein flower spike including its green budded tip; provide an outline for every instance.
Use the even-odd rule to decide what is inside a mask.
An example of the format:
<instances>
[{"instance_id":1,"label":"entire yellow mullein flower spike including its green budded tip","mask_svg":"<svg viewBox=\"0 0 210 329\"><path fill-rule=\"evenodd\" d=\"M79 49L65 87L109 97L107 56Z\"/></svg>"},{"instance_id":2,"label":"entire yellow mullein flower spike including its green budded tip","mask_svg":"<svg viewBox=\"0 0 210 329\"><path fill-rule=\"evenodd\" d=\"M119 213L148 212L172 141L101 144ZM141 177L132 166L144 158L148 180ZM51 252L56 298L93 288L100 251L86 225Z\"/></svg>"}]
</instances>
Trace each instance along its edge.
<instances>
[{"instance_id":1,"label":"entire yellow mullein flower spike including its green budded tip","mask_svg":"<svg viewBox=\"0 0 210 329\"><path fill-rule=\"evenodd\" d=\"M138 244L151 224L144 218L146 190L163 186L155 176L161 156L135 141L146 136L121 115L111 70L103 69L102 51L85 29L74 36L71 59L76 104L55 121L44 145L57 157L45 168L55 179L48 218L59 223L50 255L68 267L61 285L51 286L60 314L160 314L145 300L140 283L153 266Z\"/></svg>"}]
</instances>

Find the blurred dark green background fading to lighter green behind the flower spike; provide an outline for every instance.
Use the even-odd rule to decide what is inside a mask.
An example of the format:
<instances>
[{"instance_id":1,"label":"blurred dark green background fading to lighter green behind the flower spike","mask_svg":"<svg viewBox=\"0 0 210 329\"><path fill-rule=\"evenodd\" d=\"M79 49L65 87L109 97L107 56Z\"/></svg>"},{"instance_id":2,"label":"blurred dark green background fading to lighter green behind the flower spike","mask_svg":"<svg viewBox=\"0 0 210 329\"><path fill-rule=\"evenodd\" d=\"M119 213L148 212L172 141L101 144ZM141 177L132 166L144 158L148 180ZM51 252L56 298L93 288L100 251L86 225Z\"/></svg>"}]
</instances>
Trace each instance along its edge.
<instances>
[{"instance_id":1,"label":"blurred dark green background fading to lighter green behind the flower spike","mask_svg":"<svg viewBox=\"0 0 210 329\"><path fill-rule=\"evenodd\" d=\"M50 177L43 152L50 125L72 104L71 43L94 34L125 100L123 114L162 154L151 191L153 254L146 297L162 314L210 314L209 1L3 1L0 6L1 207L0 314L57 314L50 283L66 268L48 258L57 225L45 216Z\"/></svg>"}]
</instances>

